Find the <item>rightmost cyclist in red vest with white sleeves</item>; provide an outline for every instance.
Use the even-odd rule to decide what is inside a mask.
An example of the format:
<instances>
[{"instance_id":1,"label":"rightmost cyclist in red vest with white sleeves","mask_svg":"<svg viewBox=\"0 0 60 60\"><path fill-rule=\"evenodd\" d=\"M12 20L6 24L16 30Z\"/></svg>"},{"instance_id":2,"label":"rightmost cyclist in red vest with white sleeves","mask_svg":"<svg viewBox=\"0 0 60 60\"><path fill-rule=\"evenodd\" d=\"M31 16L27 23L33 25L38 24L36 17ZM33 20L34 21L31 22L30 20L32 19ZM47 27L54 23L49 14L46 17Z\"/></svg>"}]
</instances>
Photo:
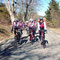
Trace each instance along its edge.
<instances>
[{"instance_id":1,"label":"rightmost cyclist in red vest with white sleeves","mask_svg":"<svg viewBox=\"0 0 60 60\"><path fill-rule=\"evenodd\" d=\"M44 40L45 39L45 32L47 31L47 28L46 28L45 21L41 17L38 20L38 30L39 30L39 38L40 38L40 40L41 40L42 31L44 31L43 32L43 40Z\"/></svg>"}]
</instances>

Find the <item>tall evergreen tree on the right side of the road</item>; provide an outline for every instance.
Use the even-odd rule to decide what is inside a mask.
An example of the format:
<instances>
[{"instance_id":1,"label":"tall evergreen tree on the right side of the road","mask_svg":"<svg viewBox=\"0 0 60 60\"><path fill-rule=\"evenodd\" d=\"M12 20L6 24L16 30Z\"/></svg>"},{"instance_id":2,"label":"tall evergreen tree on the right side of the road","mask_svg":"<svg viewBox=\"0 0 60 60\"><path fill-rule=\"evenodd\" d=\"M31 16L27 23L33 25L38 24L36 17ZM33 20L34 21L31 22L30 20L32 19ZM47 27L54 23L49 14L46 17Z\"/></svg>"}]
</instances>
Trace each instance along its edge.
<instances>
[{"instance_id":1,"label":"tall evergreen tree on the right side of the road","mask_svg":"<svg viewBox=\"0 0 60 60\"><path fill-rule=\"evenodd\" d=\"M54 26L58 26L59 24L59 3L55 0L51 0L49 3L49 9L46 11L46 18L47 20L51 21Z\"/></svg>"}]
</instances>

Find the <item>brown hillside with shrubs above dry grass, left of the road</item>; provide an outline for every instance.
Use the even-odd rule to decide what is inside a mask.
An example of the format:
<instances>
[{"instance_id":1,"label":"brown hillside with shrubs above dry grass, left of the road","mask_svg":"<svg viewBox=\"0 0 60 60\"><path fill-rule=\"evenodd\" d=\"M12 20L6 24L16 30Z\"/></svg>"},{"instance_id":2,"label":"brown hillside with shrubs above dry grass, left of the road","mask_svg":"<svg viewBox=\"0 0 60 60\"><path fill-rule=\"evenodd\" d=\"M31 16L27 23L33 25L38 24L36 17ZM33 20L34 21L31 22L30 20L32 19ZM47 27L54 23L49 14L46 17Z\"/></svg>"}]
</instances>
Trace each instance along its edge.
<instances>
[{"instance_id":1,"label":"brown hillside with shrubs above dry grass, left of the road","mask_svg":"<svg viewBox=\"0 0 60 60\"><path fill-rule=\"evenodd\" d=\"M11 22L5 5L0 3L0 40L10 36Z\"/></svg>"}]
</instances>

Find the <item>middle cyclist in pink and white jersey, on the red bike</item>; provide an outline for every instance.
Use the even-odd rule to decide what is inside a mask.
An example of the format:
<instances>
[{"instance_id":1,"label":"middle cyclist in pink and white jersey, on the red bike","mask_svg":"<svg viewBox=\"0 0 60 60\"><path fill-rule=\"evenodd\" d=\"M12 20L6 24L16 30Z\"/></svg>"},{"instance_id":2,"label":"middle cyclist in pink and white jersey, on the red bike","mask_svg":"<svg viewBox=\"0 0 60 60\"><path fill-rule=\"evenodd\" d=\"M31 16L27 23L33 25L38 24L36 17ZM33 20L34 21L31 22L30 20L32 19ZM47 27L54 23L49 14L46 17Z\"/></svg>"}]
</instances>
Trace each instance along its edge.
<instances>
[{"instance_id":1,"label":"middle cyclist in pink and white jersey, on the red bike","mask_svg":"<svg viewBox=\"0 0 60 60\"><path fill-rule=\"evenodd\" d=\"M37 26L36 21L31 18L29 20L28 26L29 26L29 35L31 34L31 31L32 31L32 37L34 38L35 37L35 32L36 32L36 26ZM30 41L31 41L31 38L30 38Z\"/></svg>"}]
</instances>

